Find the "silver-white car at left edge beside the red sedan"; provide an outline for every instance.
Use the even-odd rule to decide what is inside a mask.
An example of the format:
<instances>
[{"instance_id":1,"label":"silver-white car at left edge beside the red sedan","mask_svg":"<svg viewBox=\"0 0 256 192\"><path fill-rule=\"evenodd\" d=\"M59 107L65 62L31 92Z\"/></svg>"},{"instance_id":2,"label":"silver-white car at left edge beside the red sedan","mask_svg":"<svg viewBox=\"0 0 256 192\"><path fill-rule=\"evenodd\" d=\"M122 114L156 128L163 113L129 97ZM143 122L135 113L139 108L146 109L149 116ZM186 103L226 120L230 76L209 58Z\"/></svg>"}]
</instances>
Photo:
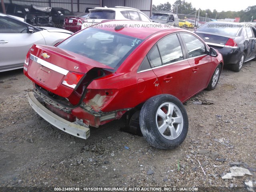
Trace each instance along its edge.
<instances>
[{"instance_id":1,"label":"silver-white car at left edge beside the red sedan","mask_svg":"<svg viewBox=\"0 0 256 192\"><path fill-rule=\"evenodd\" d=\"M53 27L34 27L0 13L0 72L23 68L33 44L54 46L73 32Z\"/></svg>"}]
</instances>

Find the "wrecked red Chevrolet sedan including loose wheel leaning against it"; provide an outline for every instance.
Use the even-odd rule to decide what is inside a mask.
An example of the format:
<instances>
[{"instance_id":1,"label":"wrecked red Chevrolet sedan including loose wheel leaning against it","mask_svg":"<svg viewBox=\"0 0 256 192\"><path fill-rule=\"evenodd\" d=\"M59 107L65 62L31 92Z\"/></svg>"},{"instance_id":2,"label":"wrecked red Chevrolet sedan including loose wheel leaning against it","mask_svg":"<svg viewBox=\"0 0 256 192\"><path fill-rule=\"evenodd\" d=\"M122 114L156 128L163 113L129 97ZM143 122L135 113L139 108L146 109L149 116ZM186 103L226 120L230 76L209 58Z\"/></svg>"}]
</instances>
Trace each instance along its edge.
<instances>
[{"instance_id":1,"label":"wrecked red Chevrolet sedan including loose wheel leaning against it","mask_svg":"<svg viewBox=\"0 0 256 192\"><path fill-rule=\"evenodd\" d=\"M58 45L33 45L24 74L34 84L32 108L80 138L126 114L154 147L180 145L188 132L183 102L216 88L222 55L187 30L110 21ZM133 123L134 124L134 123Z\"/></svg>"}]
</instances>

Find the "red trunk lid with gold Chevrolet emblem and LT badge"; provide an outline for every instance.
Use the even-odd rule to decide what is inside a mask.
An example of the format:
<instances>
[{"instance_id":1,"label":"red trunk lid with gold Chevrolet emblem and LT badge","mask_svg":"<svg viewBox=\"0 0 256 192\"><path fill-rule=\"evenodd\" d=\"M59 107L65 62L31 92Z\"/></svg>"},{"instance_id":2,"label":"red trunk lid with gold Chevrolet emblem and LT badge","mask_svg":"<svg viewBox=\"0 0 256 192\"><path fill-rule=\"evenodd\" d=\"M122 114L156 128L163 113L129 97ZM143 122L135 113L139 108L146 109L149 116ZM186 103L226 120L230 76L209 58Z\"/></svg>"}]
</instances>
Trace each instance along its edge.
<instances>
[{"instance_id":1,"label":"red trunk lid with gold Chevrolet emblem and LT badge","mask_svg":"<svg viewBox=\"0 0 256 192\"><path fill-rule=\"evenodd\" d=\"M47 91L68 98L74 89L63 84L67 74L73 72L85 75L93 68L113 69L67 50L52 46L33 45L30 48L27 76Z\"/></svg>"}]
</instances>

